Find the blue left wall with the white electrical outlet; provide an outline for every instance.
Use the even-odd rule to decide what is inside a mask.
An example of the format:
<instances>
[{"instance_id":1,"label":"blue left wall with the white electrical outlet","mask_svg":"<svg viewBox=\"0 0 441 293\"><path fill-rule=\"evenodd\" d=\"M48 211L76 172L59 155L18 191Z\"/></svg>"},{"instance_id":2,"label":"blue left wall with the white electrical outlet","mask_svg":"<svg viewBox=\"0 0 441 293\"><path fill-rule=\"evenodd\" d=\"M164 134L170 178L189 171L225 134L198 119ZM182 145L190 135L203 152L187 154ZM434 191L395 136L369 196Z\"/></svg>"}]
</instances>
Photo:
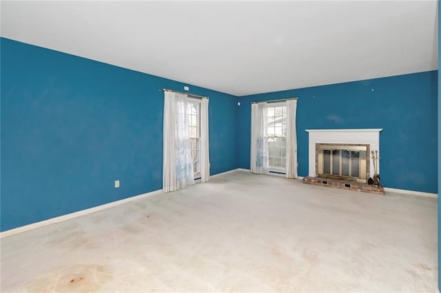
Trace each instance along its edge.
<instances>
[{"instance_id":1,"label":"blue left wall with the white electrical outlet","mask_svg":"<svg viewBox=\"0 0 441 293\"><path fill-rule=\"evenodd\" d=\"M1 230L162 188L158 89L185 84L0 41ZM236 169L237 98L189 86L210 98L211 174Z\"/></svg>"}]
</instances>

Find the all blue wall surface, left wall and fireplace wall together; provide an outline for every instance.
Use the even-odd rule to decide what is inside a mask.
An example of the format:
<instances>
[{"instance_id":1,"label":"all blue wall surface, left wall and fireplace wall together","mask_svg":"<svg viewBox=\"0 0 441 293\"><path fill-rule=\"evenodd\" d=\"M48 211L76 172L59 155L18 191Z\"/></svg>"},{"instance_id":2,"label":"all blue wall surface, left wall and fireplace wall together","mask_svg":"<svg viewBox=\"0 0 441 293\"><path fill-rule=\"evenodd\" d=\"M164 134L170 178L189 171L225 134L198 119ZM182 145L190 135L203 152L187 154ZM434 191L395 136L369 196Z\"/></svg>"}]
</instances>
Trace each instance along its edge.
<instances>
[{"instance_id":1,"label":"all blue wall surface, left wall and fireplace wall together","mask_svg":"<svg viewBox=\"0 0 441 293\"><path fill-rule=\"evenodd\" d=\"M162 187L163 92L158 89L182 90L186 84L0 42L1 230ZM438 191L436 71L239 99L189 86L193 94L210 97L212 174L249 168L252 100L296 96L299 175L307 175L308 168L304 129L383 128L382 182ZM113 187L114 180L121 180L121 188Z\"/></svg>"}]
</instances>

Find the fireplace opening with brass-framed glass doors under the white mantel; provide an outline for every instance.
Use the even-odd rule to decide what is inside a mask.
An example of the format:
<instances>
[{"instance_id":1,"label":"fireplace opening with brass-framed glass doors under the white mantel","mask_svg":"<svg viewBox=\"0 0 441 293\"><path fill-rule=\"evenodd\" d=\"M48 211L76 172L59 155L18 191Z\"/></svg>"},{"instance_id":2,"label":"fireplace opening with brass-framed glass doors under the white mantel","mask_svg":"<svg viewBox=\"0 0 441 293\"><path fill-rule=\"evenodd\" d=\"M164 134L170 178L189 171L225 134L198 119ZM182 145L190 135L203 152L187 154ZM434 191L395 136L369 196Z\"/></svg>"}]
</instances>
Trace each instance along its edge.
<instances>
[{"instance_id":1,"label":"fireplace opening with brass-framed glass doors under the white mantel","mask_svg":"<svg viewBox=\"0 0 441 293\"><path fill-rule=\"evenodd\" d=\"M367 182L369 145L316 144L316 176Z\"/></svg>"}]
</instances>

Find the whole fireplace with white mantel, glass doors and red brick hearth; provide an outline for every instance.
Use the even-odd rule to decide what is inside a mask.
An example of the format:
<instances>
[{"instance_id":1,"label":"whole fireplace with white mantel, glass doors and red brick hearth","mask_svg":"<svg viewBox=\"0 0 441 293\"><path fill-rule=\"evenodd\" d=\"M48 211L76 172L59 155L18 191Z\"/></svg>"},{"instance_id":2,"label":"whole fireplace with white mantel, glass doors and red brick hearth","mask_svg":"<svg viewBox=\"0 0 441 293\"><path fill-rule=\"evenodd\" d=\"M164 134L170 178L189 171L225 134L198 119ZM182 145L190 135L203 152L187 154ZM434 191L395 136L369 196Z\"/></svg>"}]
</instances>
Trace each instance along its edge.
<instances>
[{"instance_id":1,"label":"whole fireplace with white mantel, glass doors and red brick hearth","mask_svg":"<svg viewBox=\"0 0 441 293\"><path fill-rule=\"evenodd\" d=\"M383 188L367 184L374 173L370 153L380 149L382 129L306 131L309 133L309 176L303 182L384 194ZM380 166L377 169L380 173Z\"/></svg>"}]
</instances>

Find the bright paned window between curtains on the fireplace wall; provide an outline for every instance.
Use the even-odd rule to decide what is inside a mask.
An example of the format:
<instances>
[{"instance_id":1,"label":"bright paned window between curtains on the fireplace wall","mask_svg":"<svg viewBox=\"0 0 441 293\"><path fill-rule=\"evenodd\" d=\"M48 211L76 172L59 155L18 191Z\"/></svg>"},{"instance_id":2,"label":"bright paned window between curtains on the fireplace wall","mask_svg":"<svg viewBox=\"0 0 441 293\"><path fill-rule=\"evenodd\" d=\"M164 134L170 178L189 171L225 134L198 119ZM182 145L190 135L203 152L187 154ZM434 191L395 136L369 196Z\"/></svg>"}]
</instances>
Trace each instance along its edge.
<instances>
[{"instance_id":1,"label":"bright paned window between curtains on the fireplace wall","mask_svg":"<svg viewBox=\"0 0 441 293\"><path fill-rule=\"evenodd\" d=\"M287 151L287 107L285 102L267 106L269 171L285 173Z\"/></svg>"}]
</instances>

